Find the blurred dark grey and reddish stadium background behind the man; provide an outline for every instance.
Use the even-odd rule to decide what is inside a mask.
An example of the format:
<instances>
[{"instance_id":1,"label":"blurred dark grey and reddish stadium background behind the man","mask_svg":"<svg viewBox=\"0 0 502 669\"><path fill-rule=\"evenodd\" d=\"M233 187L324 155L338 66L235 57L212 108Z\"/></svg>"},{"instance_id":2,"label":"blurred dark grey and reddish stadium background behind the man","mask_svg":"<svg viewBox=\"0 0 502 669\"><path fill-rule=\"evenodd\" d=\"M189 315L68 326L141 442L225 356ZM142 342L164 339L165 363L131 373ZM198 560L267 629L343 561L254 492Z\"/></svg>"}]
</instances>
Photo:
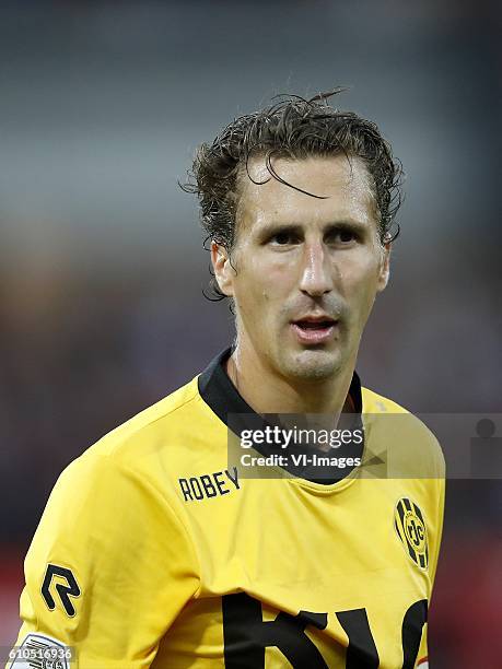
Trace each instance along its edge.
<instances>
[{"instance_id":1,"label":"blurred dark grey and reddish stadium background behind the man","mask_svg":"<svg viewBox=\"0 0 502 669\"><path fill-rule=\"evenodd\" d=\"M0 2L0 646L60 471L232 337L202 296L191 156L278 93L351 90L406 173L364 385L500 412L497 3ZM499 435L501 436L501 435ZM435 669L502 666L502 482L450 481Z\"/></svg>"}]
</instances>

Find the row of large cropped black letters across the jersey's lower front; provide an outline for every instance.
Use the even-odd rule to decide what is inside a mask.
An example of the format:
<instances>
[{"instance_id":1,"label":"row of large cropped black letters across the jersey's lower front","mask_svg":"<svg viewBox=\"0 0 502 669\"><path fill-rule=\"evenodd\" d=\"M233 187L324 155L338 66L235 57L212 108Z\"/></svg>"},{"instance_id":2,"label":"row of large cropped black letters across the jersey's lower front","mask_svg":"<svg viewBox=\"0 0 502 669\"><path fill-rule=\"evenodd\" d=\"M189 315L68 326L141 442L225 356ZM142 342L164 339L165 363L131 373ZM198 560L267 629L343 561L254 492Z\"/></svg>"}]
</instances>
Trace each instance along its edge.
<instances>
[{"instance_id":1,"label":"row of large cropped black letters across the jersey's lower front","mask_svg":"<svg viewBox=\"0 0 502 669\"><path fill-rule=\"evenodd\" d=\"M270 646L279 648L294 669L327 668L318 648L305 634L306 625L325 630L327 613L300 611L293 617L281 612L276 620L264 621L261 603L246 592L224 595L221 599L226 669L265 669L265 649ZM366 610L339 611L335 615L349 638L346 669L376 669L380 657ZM416 601L405 614L402 669L415 667L427 617L427 599Z\"/></svg>"}]
</instances>

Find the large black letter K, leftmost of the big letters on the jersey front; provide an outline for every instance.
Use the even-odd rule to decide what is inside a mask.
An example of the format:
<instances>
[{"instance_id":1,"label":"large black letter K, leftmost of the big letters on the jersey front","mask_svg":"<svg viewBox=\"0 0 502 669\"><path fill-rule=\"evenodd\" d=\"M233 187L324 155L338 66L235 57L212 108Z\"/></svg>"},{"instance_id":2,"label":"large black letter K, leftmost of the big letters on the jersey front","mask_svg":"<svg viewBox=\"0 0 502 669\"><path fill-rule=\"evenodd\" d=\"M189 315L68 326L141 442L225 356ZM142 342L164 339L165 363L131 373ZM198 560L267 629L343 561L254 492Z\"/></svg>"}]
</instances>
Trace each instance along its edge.
<instances>
[{"instance_id":1,"label":"large black letter K, leftmost of the big letters on the jersey front","mask_svg":"<svg viewBox=\"0 0 502 669\"><path fill-rule=\"evenodd\" d=\"M296 669L327 669L315 644L304 633L306 625L324 630L327 613L300 611L295 617L279 613L264 622L261 603L246 595L224 595L223 639L226 669L264 669L265 649L277 646Z\"/></svg>"}]
</instances>

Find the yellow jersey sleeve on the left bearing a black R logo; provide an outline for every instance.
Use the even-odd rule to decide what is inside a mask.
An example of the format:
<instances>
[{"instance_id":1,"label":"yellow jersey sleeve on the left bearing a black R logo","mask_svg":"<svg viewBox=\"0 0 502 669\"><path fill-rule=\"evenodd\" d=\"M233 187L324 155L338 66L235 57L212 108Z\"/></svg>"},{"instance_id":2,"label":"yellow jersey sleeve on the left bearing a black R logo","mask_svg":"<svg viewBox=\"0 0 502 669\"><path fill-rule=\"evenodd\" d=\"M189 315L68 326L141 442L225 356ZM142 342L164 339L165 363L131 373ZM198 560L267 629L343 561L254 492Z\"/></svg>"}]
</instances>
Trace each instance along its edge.
<instances>
[{"instance_id":1,"label":"yellow jersey sleeve on the left bearing a black R logo","mask_svg":"<svg viewBox=\"0 0 502 669\"><path fill-rule=\"evenodd\" d=\"M197 594L198 561L164 494L113 456L84 454L49 497L25 583L17 646L47 637L74 649L71 669L139 669Z\"/></svg>"}]
</instances>

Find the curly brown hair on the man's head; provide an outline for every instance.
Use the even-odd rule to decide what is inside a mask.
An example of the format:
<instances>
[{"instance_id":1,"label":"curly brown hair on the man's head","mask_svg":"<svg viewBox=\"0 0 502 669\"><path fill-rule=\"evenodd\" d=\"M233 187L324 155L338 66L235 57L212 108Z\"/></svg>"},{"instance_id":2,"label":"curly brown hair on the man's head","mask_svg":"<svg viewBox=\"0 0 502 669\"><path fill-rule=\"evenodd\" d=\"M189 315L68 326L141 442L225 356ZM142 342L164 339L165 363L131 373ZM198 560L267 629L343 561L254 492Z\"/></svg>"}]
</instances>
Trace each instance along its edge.
<instances>
[{"instance_id":1,"label":"curly brown hair on the man's head","mask_svg":"<svg viewBox=\"0 0 502 669\"><path fill-rule=\"evenodd\" d=\"M328 98L343 90L338 87L310 99L280 95L276 104L236 118L211 144L199 146L188 173L189 180L182 188L196 193L199 199L206 242L210 239L232 249L238 201L237 179L243 171L252 178L248 163L258 155L265 156L270 178L296 190L300 189L284 181L273 169L272 157L301 160L345 154L361 159L371 177L381 242L392 242L397 237L396 214L402 200L400 161L393 156L390 144L373 121L329 105ZM217 293L221 296L218 290Z\"/></svg>"}]
</instances>

